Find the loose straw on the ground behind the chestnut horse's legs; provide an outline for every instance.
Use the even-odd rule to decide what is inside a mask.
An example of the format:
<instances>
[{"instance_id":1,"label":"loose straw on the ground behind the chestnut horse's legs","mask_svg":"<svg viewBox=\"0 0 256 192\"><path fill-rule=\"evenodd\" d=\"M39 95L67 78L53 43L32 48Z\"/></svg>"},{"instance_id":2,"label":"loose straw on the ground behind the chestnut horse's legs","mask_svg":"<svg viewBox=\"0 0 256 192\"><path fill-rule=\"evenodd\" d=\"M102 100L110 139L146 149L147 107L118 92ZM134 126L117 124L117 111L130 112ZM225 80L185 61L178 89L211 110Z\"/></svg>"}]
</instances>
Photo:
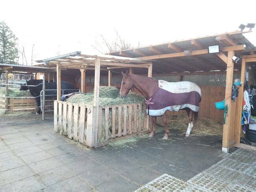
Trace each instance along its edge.
<instances>
[{"instance_id":1,"label":"loose straw on the ground behind the chestnut horse's legs","mask_svg":"<svg viewBox=\"0 0 256 192\"><path fill-rule=\"evenodd\" d=\"M161 117L157 118L157 124L163 125ZM187 114L179 114L167 117L167 126L169 129L178 129L182 131L183 134L187 131L188 117ZM205 135L217 135L222 137L223 124L217 120L212 120L208 118L198 118L196 124L191 131L191 136L205 136Z\"/></svg>"}]
</instances>

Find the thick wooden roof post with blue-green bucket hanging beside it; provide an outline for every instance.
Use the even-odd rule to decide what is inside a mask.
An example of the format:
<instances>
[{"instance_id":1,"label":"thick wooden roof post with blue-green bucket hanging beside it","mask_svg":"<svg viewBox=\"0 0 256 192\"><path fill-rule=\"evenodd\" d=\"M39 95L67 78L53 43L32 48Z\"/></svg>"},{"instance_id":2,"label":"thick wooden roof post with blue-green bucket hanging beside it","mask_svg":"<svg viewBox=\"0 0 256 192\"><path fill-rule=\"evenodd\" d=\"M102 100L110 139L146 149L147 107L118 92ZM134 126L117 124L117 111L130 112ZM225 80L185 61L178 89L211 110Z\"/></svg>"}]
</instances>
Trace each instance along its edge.
<instances>
[{"instance_id":1,"label":"thick wooden roof post with blue-green bucket hanging beside it","mask_svg":"<svg viewBox=\"0 0 256 192\"><path fill-rule=\"evenodd\" d=\"M222 151L228 153L230 148L230 130L231 121L234 120L232 117L232 83L233 83L233 71L234 63L232 57L234 56L234 51L228 51L228 62L227 62L227 72L226 72L226 90L225 90L225 105L228 104L228 113L226 114L226 123L223 126L223 139L222 139Z\"/></svg>"}]
</instances>

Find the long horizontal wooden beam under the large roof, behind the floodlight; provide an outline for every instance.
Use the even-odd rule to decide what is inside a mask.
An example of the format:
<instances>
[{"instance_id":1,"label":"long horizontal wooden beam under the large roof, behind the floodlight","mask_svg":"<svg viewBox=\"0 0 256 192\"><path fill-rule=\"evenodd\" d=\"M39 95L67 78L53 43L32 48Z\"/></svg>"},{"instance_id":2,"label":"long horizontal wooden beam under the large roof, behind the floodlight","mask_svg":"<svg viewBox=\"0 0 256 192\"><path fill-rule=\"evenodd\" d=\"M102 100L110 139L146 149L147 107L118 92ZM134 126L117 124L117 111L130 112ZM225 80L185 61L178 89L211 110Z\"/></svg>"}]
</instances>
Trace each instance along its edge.
<instances>
[{"instance_id":1,"label":"long horizontal wooden beam under the large roof, behind the floodlight","mask_svg":"<svg viewBox=\"0 0 256 192\"><path fill-rule=\"evenodd\" d=\"M222 52L227 52L227 51L237 51L237 50L244 50L244 45L236 45L236 46L228 46L228 47L223 47L221 48ZM195 50L192 51L191 55L204 55L208 54L208 49L202 49L202 50ZM184 52L178 52L178 53L171 53L171 54L162 54L162 55L151 55L147 57L136 57L137 59L164 59L164 58L171 58L171 57L184 57L188 56L184 54Z\"/></svg>"}]
</instances>

